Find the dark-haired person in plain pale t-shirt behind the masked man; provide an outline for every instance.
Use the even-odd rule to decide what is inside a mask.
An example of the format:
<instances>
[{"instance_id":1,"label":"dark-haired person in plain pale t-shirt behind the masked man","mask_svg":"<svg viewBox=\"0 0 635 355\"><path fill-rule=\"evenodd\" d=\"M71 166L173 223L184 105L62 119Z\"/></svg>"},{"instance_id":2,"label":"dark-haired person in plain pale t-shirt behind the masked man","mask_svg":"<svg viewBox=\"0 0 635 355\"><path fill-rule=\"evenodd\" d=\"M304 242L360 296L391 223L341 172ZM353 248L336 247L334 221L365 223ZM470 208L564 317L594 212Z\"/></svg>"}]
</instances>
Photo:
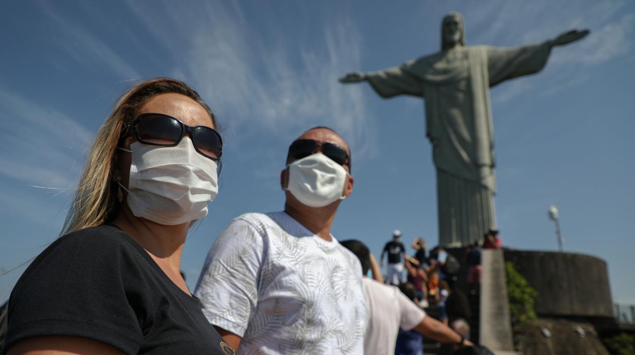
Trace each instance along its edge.
<instances>
[{"instance_id":1,"label":"dark-haired person in plain pale t-shirt behind the masked man","mask_svg":"<svg viewBox=\"0 0 635 355\"><path fill-rule=\"evenodd\" d=\"M362 266L360 272L365 276L371 267L368 247L356 240L342 241L342 246L359 258ZM394 354L399 328L405 331L415 330L444 344L474 345L448 326L426 316L425 312L396 286L385 285L364 277L363 287L368 309L364 354Z\"/></svg>"}]
</instances>

